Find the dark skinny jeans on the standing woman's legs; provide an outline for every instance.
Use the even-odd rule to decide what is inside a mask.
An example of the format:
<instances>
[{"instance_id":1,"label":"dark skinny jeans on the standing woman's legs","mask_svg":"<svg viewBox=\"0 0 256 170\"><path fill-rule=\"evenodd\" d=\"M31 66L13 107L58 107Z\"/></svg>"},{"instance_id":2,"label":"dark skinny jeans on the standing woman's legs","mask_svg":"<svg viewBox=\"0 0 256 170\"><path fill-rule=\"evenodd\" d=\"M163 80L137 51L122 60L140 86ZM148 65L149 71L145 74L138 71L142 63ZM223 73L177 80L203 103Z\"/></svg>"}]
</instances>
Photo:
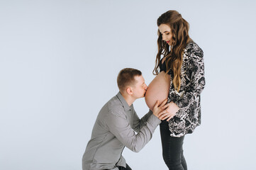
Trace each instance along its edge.
<instances>
[{"instance_id":1,"label":"dark skinny jeans on the standing woman's legs","mask_svg":"<svg viewBox=\"0 0 256 170\"><path fill-rule=\"evenodd\" d=\"M162 140L162 157L169 170L187 170L187 163L183 156L183 137L171 137L168 122L162 120L160 124Z\"/></svg>"}]
</instances>

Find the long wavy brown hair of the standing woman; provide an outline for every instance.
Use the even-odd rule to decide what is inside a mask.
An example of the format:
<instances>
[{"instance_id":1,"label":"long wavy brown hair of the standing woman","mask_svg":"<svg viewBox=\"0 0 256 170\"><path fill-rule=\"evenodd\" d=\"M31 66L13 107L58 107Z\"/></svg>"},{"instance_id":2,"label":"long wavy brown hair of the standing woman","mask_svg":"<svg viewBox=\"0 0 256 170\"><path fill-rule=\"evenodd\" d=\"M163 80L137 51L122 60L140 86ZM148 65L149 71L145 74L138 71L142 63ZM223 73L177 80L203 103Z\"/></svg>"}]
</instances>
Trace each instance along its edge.
<instances>
[{"instance_id":1,"label":"long wavy brown hair of the standing woman","mask_svg":"<svg viewBox=\"0 0 256 170\"><path fill-rule=\"evenodd\" d=\"M155 60L155 69L153 74L157 75L159 72L157 68L160 66L161 55L166 57L165 63L167 73L172 69L174 89L179 91L181 86L181 69L182 69L182 55L187 43L191 40L189 38L189 23L182 18L182 15L177 11L170 10L163 13L157 19L157 26L166 24L172 31L172 45L162 40L162 34L158 30L158 53Z\"/></svg>"}]
</instances>

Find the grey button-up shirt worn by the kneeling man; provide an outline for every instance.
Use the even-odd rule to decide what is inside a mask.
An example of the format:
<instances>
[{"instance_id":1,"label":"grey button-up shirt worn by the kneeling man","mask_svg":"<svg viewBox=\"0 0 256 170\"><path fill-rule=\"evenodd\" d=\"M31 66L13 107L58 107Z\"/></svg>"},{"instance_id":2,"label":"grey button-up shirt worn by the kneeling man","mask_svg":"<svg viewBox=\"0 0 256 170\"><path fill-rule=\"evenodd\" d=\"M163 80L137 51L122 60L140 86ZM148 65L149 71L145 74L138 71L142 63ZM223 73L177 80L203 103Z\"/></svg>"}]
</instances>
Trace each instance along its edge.
<instances>
[{"instance_id":1,"label":"grey button-up shirt worn by the kneeling man","mask_svg":"<svg viewBox=\"0 0 256 170\"><path fill-rule=\"evenodd\" d=\"M161 120L152 111L138 118L133 105L128 106L119 92L101 108L96 118L91 140L82 158L82 169L126 167L126 160L122 156L124 147L139 152L150 141L160 123Z\"/></svg>"}]
</instances>

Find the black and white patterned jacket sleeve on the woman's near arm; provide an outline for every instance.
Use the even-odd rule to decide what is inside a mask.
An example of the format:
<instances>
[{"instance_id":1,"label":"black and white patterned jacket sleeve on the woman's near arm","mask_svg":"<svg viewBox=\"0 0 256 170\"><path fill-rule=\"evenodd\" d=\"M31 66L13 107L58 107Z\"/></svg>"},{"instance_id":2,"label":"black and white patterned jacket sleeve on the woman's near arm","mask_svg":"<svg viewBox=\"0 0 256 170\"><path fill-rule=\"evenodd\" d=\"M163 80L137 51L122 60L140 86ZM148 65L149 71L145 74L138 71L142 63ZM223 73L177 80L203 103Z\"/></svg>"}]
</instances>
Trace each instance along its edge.
<instances>
[{"instance_id":1,"label":"black and white patterned jacket sleeve on the woman's near arm","mask_svg":"<svg viewBox=\"0 0 256 170\"><path fill-rule=\"evenodd\" d=\"M184 92L184 94L177 98L175 103L179 106L180 111L178 115L182 114L182 109L193 106L200 102L200 94L205 86L204 78L204 52L200 47L191 47L187 50L189 58L185 63L187 67L187 77L190 79L190 86Z\"/></svg>"}]
</instances>

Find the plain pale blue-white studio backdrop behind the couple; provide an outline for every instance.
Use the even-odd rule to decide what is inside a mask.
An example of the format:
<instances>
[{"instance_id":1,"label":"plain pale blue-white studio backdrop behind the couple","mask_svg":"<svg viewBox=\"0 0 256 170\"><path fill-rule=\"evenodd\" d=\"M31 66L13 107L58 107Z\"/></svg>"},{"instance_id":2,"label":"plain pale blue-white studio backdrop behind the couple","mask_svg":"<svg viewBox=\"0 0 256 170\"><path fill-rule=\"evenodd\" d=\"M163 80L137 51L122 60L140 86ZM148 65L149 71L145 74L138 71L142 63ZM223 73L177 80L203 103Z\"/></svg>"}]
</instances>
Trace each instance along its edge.
<instances>
[{"instance_id":1,"label":"plain pale blue-white studio backdrop behind the couple","mask_svg":"<svg viewBox=\"0 0 256 170\"><path fill-rule=\"evenodd\" d=\"M204 50L202 124L189 169L256 169L255 1L0 1L0 169L82 169L96 115L124 67L154 78L157 18L170 9ZM135 101L142 117L144 98ZM159 128L133 169L167 169Z\"/></svg>"}]
</instances>

